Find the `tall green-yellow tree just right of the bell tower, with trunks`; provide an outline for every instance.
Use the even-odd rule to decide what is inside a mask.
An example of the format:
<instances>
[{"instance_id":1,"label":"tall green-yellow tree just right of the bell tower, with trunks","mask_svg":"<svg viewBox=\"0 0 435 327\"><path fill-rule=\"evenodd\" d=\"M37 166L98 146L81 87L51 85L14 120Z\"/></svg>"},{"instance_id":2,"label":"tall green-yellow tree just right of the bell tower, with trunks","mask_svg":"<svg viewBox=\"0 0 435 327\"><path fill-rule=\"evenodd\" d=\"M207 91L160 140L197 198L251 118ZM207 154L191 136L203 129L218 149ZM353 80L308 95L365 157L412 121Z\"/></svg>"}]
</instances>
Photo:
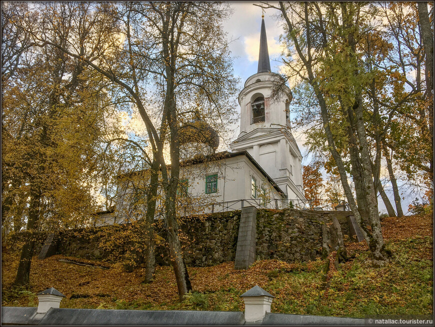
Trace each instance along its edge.
<instances>
[{"instance_id":1,"label":"tall green-yellow tree just right of the bell tower, with trunks","mask_svg":"<svg viewBox=\"0 0 435 327\"><path fill-rule=\"evenodd\" d=\"M279 6L263 4L279 10L284 21L284 42L288 57L297 60L284 63L293 74L309 84L316 97L327 148L339 171L341 183L355 219L363 228L375 266L389 260L385 249L377 211L373 185L370 151L363 117L363 88L369 75L361 69L358 42L371 28L368 11L362 3L283 3ZM364 8L365 9L365 8ZM335 120L336 119L336 120ZM332 122L338 121L332 130ZM338 132L336 132L338 131ZM340 148L344 137L346 147ZM345 150L345 151L344 151ZM343 152L344 153L340 153ZM356 206L347 181L342 154L350 155L355 183ZM364 203L361 206L361 203ZM371 225L369 231L361 217L367 209Z\"/></svg>"}]
</instances>

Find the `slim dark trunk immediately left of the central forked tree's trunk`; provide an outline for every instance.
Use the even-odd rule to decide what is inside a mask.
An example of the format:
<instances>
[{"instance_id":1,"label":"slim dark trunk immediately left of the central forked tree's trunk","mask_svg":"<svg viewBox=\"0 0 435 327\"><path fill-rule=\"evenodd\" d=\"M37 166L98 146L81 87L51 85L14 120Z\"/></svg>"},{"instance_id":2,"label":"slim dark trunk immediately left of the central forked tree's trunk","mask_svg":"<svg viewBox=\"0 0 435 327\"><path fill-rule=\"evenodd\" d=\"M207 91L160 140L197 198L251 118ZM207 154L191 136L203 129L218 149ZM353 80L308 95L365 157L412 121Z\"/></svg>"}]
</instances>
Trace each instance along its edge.
<instances>
[{"instance_id":1,"label":"slim dark trunk immediately left of the central forked tree's trunk","mask_svg":"<svg viewBox=\"0 0 435 327\"><path fill-rule=\"evenodd\" d=\"M149 283L154 280L155 273L155 240L154 240L154 215L155 199L158 186L158 162L156 159L151 163L151 177L146 196L146 229L145 229L145 278L144 282Z\"/></svg>"}]
</instances>

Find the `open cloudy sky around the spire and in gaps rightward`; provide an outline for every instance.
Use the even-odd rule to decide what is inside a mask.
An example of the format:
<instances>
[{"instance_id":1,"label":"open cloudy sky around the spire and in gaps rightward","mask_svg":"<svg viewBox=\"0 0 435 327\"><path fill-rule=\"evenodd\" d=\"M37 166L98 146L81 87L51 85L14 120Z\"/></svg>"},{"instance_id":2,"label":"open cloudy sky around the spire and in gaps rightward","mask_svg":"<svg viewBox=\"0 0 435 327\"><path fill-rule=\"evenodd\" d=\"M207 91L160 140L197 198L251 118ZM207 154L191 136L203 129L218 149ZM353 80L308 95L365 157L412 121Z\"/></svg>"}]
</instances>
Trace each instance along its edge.
<instances>
[{"instance_id":1,"label":"open cloudy sky around the spire and in gaps rightward","mask_svg":"<svg viewBox=\"0 0 435 327\"><path fill-rule=\"evenodd\" d=\"M231 55L234 57L234 75L240 77L238 86L241 90L244 81L257 71L262 9L253 5L253 3L259 4L260 2L230 1L229 3L233 8L233 14L229 19L223 22L222 26L228 33L228 39L232 40L229 49ZM274 2L269 3L277 5L277 3ZM280 65L282 64L280 60L281 46L279 44L279 35L282 33L282 27L279 26L279 22L276 18L273 17L276 11L277 10L273 8L264 10L264 23L272 72L279 72ZM237 110L240 112L240 107L238 107ZM238 133L239 130L235 130L234 139L237 137ZM303 156L302 164L308 164L311 160L311 156L307 152L306 147L303 146L303 132L293 130L293 136ZM324 175L323 178L325 179L326 176ZM385 187L385 192L390 198L391 203L394 203L392 191L388 187ZM408 191L407 193L403 193L403 197L402 209L406 212L408 204L416 196L414 193ZM386 213L385 206L380 196L378 198L378 204L379 211Z\"/></svg>"}]
</instances>

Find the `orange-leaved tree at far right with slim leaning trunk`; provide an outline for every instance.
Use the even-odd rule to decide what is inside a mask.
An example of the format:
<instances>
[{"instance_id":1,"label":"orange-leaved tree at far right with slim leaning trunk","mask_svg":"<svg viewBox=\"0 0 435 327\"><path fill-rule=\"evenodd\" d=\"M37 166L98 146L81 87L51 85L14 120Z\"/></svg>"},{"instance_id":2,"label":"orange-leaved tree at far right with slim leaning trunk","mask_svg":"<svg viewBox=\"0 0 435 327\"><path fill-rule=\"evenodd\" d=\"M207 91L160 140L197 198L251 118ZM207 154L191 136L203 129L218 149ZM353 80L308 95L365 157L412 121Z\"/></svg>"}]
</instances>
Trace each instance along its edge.
<instances>
[{"instance_id":1,"label":"orange-leaved tree at far right with slim leaning trunk","mask_svg":"<svg viewBox=\"0 0 435 327\"><path fill-rule=\"evenodd\" d=\"M406 172L408 180L417 179L421 171L426 180L431 181L433 178L433 110L426 100L427 95L430 97L430 87L433 86L427 83L432 79L427 78L430 63L425 60L416 3L384 3L381 6L382 15L387 22L384 25L384 38L390 42L390 49L386 52L386 60L378 60L376 68L382 69L388 76L393 92L388 95L385 87L379 85L378 89L384 90L380 91L382 94L377 96L376 102L380 107L392 109L388 119L385 118L386 124L381 124L385 125L381 147L387 163L397 215L401 216L403 211L392 168L393 159Z\"/></svg>"}]
</instances>

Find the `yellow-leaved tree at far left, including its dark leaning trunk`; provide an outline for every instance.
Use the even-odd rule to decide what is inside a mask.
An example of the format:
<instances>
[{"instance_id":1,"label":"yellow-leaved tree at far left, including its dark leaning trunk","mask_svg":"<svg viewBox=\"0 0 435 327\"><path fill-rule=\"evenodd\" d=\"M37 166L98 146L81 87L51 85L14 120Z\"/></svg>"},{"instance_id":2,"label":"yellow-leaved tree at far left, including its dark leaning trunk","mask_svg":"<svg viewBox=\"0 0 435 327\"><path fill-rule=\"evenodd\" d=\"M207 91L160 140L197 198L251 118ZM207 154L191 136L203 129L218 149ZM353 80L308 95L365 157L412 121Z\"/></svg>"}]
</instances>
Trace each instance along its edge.
<instances>
[{"instance_id":1,"label":"yellow-leaved tree at far left, including its dark leaning trunk","mask_svg":"<svg viewBox=\"0 0 435 327\"><path fill-rule=\"evenodd\" d=\"M27 25L23 17L33 13L20 10L9 30L31 35L40 21ZM68 22L51 20L59 42L69 37ZM16 284L29 281L35 231L84 226L95 210L92 173L109 116L99 75L54 47L26 44L15 46L13 74L2 75L2 222L16 231L25 223L29 233Z\"/></svg>"}]
</instances>

